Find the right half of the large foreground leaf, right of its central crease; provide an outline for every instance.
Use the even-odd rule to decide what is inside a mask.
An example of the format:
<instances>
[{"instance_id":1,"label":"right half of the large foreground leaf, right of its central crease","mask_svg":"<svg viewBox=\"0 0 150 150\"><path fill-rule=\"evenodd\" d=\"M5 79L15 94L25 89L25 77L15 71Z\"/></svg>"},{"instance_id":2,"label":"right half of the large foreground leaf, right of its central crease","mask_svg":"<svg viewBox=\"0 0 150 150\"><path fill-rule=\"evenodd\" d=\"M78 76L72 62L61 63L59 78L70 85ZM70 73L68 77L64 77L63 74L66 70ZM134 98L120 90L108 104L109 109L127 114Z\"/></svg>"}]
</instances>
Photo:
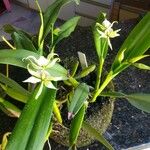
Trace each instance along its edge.
<instances>
[{"instance_id":1,"label":"right half of the large foreground leaf, right of its central crease","mask_svg":"<svg viewBox=\"0 0 150 150\"><path fill-rule=\"evenodd\" d=\"M43 97L42 105L36 116L34 127L31 132L30 139L26 149L42 150L45 138L47 136L51 118L53 115L53 105L56 99L56 90L46 89L46 93Z\"/></svg>"}]
</instances>

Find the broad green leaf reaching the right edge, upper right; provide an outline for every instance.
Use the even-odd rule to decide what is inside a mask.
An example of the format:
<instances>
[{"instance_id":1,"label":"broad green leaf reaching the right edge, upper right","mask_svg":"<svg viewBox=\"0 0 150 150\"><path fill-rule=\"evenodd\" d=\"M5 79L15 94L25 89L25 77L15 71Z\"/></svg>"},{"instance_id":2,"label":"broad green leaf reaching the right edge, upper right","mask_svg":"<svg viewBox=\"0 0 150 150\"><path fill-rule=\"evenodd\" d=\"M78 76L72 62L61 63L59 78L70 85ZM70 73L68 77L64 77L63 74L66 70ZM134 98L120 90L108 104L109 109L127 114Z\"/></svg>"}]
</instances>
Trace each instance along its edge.
<instances>
[{"instance_id":1,"label":"broad green leaf reaching the right edge, upper right","mask_svg":"<svg viewBox=\"0 0 150 150\"><path fill-rule=\"evenodd\" d=\"M124 50L124 61L130 61L131 59L141 57L150 48L150 12L148 12L144 18L136 25L131 31L123 45L121 46L115 61L112 65L112 70L115 70L118 66L118 55Z\"/></svg>"}]
</instances>

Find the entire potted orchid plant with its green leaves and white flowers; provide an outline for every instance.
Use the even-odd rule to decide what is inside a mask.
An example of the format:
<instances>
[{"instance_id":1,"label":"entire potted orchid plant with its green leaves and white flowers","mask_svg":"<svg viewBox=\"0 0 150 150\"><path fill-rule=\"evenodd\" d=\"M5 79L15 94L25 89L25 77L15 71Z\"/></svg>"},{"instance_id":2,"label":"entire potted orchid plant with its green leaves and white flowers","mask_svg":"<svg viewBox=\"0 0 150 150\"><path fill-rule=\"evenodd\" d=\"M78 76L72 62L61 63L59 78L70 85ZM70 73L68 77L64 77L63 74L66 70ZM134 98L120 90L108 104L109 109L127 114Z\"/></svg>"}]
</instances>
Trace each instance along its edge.
<instances>
[{"instance_id":1,"label":"entire potted orchid plant with its green leaves and white flowers","mask_svg":"<svg viewBox=\"0 0 150 150\"><path fill-rule=\"evenodd\" d=\"M79 63L77 62L69 72L59 63L61 59L56 54L55 47L74 31L80 17L73 17L60 27L55 27L54 24L61 7L70 2L79 3L77 0L57 0L43 13L36 1L41 18L38 36L32 36L11 25L4 27L5 31L11 34L14 45L3 38L11 49L0 50L0 64L7 65L7 75L0 73L0 85L7 95L25 103L25 106L23 110L20 110L10 101L5 100L4 96L0 97L0 108L10 116L19 117L8 142L6 138L8 135L4 136L2 149L41 150L44 143L53 134L54 124L63 125L61 106L64 104L67 105L68 119L71 120L68 139L70 150L76 149L81 128L108 149L113 149L99 131L85 121L88 106L100 100L98 97L123 97L133 106L150 112L150 94L131 93L127 95L105 90L119 73L131 65L140 69L150 69L149 66L138 62L149 56L144 53L150 48L150 13L148 12L130 33L118 51L108 74L102 80L108 48L112 49L110 39L119 36L120 29L113 30L115 22L111 24L106 19L106 15L101 13L92 27L97 63L87 66L86 60L82 59L80 61L82 70L78 69ZM51 37L48 43L49 51L45 50L47 36ZM24 89L9 77L9 65L24 68L24 71L29 72L31 76L23 81L29 83L28 89ZM82 78L93 71L96 71L97 78L95 85L91 86L83 82ZM64 87L67 87L65 88L65 99L62 100L58 100L58 96L61 95L60 83L61 86L63 84Z\"/></svg>"}]
</instances>

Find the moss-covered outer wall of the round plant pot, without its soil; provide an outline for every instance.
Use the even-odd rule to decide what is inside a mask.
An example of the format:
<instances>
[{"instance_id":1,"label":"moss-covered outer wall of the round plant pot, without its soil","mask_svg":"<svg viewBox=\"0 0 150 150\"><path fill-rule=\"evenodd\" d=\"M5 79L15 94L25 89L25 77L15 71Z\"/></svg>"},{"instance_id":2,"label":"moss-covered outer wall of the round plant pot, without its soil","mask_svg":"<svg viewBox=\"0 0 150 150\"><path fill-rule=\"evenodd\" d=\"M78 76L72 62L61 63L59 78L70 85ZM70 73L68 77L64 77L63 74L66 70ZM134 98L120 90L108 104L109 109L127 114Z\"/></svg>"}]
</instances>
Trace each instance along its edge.
<instances>
[{"instance_id":1,"label":"moss-covered outer wall of the round plant pot, without its soil","mask_svg":"<svg viewBox=\"0 0 150 150\"><path fill-rule=\"evenodd\" d=\"M99 133L103 134L111 122L113 109L114 101L108 100L107 104L104 104L98 111L86 118L85 121L99 131ZM52 132L51 138L57 143L60 143L64 146L69 146L69 128L55 123L53 130L54 131ZM88 135L84 129L82 129L78 137L77 146L87 146L93 141L94 139Z\"/></svg>"}]
</instances>

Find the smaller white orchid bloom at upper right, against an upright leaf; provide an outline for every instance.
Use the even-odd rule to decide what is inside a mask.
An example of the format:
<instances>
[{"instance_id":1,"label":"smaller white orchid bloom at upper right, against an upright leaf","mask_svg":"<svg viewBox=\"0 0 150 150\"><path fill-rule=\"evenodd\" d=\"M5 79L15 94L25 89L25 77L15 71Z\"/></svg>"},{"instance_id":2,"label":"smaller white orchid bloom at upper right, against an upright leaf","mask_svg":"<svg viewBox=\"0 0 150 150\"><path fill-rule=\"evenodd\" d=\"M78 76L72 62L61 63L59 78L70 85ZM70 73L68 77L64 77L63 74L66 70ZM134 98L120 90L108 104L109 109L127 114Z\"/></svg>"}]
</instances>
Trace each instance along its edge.
<instances>
[{"instance_id":1,"label":"smaller white orchid bloom at upper right, against an upright leaf","mask_svg":"<svg viewBox=\"0 0 150 150\"><path fill-rule=\"evenodd\" d=\"M117 21L114 21L113 23L110 23L107 19L105 19L102 24L96 23L97 31L100 34L99 38L106 38L108 40L108 45L112 49L112 45L110 42L110 38L114 38L119 36L118 32L121 29L113 30L114 23L117 23Z\"/></svg>"}]
</instances>

